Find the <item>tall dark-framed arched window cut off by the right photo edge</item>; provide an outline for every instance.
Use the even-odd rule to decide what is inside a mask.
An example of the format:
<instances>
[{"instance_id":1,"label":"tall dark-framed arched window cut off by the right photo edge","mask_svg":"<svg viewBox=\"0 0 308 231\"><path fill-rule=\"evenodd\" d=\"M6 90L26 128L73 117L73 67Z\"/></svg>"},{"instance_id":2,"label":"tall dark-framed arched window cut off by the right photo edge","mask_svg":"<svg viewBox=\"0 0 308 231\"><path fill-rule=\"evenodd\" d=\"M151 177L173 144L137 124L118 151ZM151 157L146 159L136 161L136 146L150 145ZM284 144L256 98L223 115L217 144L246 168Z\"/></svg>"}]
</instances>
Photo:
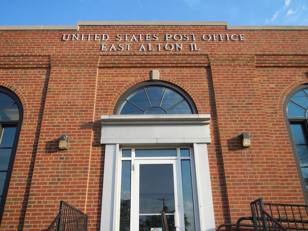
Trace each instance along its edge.
<instances>
[{"instance_id":1,"label":"tall dark-framed arched window cut off by the right photo edge","mask_svg":"<svg viewBox=\"0 0 308 231\"><path fill-rule=\"evenodd\" d=\"M299 178L306 202L308 202L308 85L304 84L287 96L284 104L284 116Z\"/></svg>"}]
</instances>

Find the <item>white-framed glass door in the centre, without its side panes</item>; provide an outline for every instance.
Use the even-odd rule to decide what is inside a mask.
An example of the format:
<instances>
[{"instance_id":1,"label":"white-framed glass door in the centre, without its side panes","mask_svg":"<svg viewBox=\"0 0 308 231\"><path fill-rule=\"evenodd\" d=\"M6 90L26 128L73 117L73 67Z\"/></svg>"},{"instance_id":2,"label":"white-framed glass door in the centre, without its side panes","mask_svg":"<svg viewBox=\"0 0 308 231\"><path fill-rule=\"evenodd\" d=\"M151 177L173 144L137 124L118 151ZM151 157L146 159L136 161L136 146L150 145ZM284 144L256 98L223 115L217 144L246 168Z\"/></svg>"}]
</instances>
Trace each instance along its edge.
<instances>
[{"instance_id":1,"label":"white-framed glass door in the centre, without its side panes","mask_svg":"<svg viewBox=\"0 0 308 231\"><path fill-rule=\"evenodd\" d=\"M182 227L177 163L177 160L135 160L131 230L161 230L164 218L169 231L179 231L178 227Z\"/></svg>"}]
</instances>

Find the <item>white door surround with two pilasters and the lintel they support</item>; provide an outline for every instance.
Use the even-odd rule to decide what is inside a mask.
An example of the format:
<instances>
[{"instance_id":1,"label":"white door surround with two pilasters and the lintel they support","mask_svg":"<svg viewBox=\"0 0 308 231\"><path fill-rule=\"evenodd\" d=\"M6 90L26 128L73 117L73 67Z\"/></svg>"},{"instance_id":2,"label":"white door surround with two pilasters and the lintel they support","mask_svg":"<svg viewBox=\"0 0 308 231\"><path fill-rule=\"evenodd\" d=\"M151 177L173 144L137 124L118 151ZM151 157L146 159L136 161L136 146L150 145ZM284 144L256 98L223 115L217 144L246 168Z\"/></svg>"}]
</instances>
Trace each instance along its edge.
<instances>
[{"instance_id":1,"label":"white door surround with two pilasters and the lintel they support","mask_svg":"<svg viewBox=\"0 0 308 231\"><path fill-rule=\"evenodd\" d=\"M207 152L207 144L211 143L209 120L208 114L101 116L101 144L105 144L101 231L119 229L120 145L177 148L181 144L193 148L199 215L196 223L199 222L200 231L216 230Z\"/></svg>"}]
</instances>

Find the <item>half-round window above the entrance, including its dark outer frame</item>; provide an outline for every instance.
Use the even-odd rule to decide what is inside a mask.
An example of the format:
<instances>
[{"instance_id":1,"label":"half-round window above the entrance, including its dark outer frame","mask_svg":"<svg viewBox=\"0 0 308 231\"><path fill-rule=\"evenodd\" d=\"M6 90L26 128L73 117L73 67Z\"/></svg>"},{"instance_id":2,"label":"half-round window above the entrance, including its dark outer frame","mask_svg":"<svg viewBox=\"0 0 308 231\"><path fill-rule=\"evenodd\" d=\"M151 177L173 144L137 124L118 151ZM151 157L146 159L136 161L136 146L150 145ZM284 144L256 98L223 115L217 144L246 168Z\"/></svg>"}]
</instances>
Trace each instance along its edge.
<instances>
[{"instance_id":1,"label":"half-round window above the entrance, including its dark outer frame","mask_svg":"<svg viewBox=\"0 0 308 231\"><path fill-rule=\"evenodd\" d=\"M130 88L120 97L114 114L197 114L197 109L181 88L165 82L144 82Z\"/></svg>"}]
</instances>

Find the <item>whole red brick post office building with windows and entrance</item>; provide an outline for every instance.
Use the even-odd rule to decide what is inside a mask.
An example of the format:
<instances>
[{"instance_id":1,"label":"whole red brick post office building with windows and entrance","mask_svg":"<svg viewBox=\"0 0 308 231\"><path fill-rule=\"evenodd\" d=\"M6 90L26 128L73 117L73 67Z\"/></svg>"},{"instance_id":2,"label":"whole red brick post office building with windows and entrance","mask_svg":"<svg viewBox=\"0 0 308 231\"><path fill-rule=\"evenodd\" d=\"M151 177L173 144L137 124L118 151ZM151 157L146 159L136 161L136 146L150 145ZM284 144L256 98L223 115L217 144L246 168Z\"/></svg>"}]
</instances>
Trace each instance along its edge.
<instances>
[{"instance_id":1,"label":"whole red brick post office building with windows and entrance","mask_svg":"<svg viewBox=\"0 0 308 231\"><path fill-rule=\"evenodd\" d=\"M307 204L307 47L307 26L0 26L0 230L46 229L61 200L91 231Z\"/></svg>"}]
</instances>

